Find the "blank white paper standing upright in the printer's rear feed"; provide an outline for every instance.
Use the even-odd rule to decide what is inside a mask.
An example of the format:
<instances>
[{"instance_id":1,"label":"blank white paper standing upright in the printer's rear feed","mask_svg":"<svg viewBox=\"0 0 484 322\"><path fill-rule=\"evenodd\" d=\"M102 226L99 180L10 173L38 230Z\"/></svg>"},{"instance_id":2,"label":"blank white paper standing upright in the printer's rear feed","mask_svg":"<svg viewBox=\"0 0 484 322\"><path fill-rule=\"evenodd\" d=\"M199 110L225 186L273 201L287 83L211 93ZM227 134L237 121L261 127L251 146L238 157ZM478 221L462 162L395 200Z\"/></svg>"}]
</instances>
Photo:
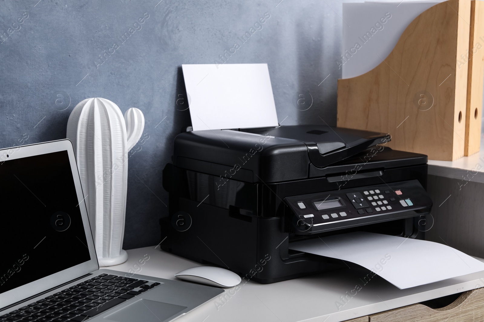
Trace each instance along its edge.
<instances>
[{"instance_id":1,"label":"blank white paper standing upright in the printer's rear feed","mask_svg":"<svg viewBox=\"0 0 484 322\"><path fill-rule=\"evenodd\" d=\"M267 64L181 68L194 130L278 125Z\"/></svg>"}]
</instances>

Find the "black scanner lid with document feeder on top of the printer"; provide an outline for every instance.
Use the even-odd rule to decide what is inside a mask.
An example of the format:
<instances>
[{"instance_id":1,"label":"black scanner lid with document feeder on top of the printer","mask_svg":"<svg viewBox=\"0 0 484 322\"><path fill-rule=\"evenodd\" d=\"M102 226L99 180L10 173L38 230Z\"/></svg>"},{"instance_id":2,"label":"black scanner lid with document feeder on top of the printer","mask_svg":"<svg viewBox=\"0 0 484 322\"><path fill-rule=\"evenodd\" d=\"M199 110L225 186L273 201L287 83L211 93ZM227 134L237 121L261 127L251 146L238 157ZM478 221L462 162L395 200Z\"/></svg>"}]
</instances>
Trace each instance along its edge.
<instances>
[{"instance_id":1,"label":"black scanner lid with document feeder on top of the printer","mask_svg":"<svg viewBox=\"0 0 484 322\"><path fill-rule=\"evenodd\" d=\"M388 134L320 125L190 131L175 138L173 164L245 182L283 182L326 176L355 162L365 163L364 168L427 162L423 154L385 148L375 162L363 155L345 164L348 158L389 140ZM385 162L385 155L392 165Z\"/></svg>"}]
</instances>

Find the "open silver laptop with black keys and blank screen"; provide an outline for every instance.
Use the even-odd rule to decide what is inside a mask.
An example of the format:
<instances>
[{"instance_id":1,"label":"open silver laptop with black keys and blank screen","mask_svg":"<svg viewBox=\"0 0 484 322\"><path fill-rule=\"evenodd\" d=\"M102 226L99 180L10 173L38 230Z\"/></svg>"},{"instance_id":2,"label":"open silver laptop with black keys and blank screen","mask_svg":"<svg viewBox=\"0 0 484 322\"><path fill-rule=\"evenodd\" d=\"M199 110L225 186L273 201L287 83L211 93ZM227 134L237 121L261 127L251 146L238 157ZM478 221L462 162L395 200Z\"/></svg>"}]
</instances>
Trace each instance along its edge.
<instances>
[{"instance_id":1,"label":"open silver laptop with black keys and blank screen","mask_svg":"<svg viewBox=\"0 0 484 322\"><path fill-rule=\"evenodd\" d=\"M224 290L99 269L69 140L0 150L0 322L163 322Z\"/></svg>"}]
</instances>

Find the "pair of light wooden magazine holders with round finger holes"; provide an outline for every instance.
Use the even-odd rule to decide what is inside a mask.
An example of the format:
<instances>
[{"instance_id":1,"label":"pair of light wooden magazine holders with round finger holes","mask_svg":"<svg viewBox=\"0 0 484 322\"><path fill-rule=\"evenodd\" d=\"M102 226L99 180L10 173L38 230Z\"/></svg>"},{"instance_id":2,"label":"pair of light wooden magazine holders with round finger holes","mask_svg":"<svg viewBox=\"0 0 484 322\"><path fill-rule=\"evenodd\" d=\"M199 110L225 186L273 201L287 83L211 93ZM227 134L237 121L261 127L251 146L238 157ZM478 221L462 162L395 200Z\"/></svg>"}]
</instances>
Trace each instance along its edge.
<instances>
[{"instance_id":1,"label":"pair of light wooden magazine holders with round finger holes","mask_svg":"<svg viewBox=\"0 0 484 322\"><path fill-rule=\"evenodd\" d=\"M339 79L337 126L390 133L388 146L429 159L478 152L484 47L475 46L484 46L482 4L449 0L432 6L377 67Z\"/></svg>"}]
</instances>

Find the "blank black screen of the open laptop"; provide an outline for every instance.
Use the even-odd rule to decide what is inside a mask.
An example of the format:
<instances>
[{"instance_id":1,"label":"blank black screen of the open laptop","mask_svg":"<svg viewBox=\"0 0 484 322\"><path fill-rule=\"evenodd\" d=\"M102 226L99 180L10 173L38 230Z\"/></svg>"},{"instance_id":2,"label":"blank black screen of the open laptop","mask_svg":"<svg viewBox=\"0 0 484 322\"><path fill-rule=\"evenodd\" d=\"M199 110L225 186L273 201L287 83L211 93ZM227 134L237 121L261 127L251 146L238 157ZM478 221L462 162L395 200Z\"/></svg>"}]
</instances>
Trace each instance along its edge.
<instances>
[{"instance_id":1,"label":"blank black screen of the open laptop","mask_svg":"<svg viewBox=\"0 0 484 322\"><path fill-rule=\"evenodd\" d=\"M78 203L67 151L0 162L0 293L91 259Z\"/></svg>"}]
</instances>

